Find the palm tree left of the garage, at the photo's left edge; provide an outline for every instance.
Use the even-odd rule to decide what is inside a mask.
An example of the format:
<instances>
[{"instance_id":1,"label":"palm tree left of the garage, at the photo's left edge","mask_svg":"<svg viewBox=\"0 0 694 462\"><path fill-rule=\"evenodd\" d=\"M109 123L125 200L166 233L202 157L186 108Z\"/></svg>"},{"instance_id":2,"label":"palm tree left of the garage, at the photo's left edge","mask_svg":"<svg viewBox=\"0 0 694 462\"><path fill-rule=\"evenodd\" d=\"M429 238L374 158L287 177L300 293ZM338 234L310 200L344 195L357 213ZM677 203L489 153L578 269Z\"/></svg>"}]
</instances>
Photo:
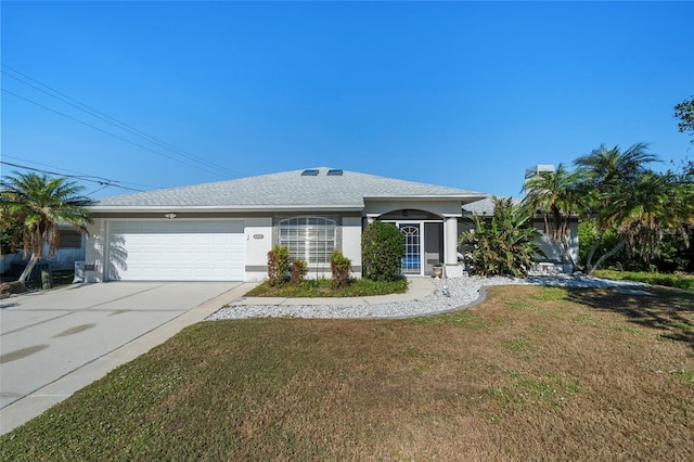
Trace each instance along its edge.
<instances>
[{"instance_id":1,"label":"palm tree left of the garage, at the photo's left edge","mask_svg":"<svg viewBox=\"0 0 694 462\"><path fill-rule=\"evenodd\" d=\"M14 175L0 180L0 223L15 224L13 248L22 243L24 258L31 254L20 277L24 283L43 256L43 245L48 244L49 256L57 249L59 224L87 233L85 224L91 222L91 218L86 207L91 200L79 194L82 187L65 178L16 171Z\"/></svg>"}]
</instances>

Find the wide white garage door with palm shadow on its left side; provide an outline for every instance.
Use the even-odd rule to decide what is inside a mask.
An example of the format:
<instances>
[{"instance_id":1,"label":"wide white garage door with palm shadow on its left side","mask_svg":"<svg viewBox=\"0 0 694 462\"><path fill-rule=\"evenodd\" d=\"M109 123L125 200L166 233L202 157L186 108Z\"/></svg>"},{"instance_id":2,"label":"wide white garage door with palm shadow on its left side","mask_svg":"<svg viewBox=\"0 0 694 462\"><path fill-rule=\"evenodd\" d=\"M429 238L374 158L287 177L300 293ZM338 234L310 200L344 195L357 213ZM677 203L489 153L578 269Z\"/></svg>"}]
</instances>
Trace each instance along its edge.
<instances>
[{"instance_id":1,"label":"wide white garage door with palm shadow on its left side","mask_svg":"<svg viewBox=\"0 0 694 462\"><path fill-rule=\"evenodd\" d=\"M243 281L243 221L142 220L108 223L111 279Z\"/></svg>"}]
</instances>

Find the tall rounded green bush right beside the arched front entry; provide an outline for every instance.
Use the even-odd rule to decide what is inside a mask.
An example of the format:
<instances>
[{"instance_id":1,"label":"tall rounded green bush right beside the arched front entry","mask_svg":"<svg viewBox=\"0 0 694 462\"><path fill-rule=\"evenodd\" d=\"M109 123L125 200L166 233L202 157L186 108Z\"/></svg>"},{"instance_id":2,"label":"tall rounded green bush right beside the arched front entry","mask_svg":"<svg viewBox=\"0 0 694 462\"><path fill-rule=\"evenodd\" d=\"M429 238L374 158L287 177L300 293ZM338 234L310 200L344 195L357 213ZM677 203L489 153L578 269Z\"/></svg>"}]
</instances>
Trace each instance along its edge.
<instances>
[{"instance_id":1,"label":"tall rounded green bush right beside the arched front entry","mask_svg":"<svg viewBox=\"0 0 694 462\"><path fill-rule=\"evenodd\" d=\"M373 221L361 235L364 278L372 281L396 281L404 256L404 235L398 227Z\"/></svg>"}]
</instances>

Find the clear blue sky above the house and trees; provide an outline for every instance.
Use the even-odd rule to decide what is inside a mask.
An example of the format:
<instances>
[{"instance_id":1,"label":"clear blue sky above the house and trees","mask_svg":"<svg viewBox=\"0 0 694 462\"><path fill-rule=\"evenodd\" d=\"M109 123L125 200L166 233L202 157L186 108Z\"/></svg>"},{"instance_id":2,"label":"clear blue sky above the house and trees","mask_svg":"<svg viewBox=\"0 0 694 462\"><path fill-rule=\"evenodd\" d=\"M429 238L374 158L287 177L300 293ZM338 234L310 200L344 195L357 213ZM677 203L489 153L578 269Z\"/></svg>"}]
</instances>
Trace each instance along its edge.
<instances>
[{"instance_id":1,"label":"clear blue sky above the house and trees","mask_svg":"<svg viewBox=\"0 0 694 462\"><path fill-rule=\"evenodd\" d=\"M329 166L518 197L527 167L602 143L694 157L673 117L693 2L0 8L3 162L140 190Z\"/></svg>"}]
</instances>

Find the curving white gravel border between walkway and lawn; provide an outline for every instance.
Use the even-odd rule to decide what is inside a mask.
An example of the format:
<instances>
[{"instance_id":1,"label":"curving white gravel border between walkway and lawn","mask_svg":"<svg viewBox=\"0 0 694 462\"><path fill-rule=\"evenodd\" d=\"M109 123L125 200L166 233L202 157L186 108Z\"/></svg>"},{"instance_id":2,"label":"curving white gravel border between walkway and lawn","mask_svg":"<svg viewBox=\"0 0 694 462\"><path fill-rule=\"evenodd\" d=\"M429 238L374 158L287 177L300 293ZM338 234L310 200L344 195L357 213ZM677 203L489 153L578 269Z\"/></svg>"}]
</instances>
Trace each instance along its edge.
<instances>
[{"instance_id":1,"label":"curving white gravel border between walkway and lawn","mask_svg":"<svg viewBox=\"0 0 694 462\"><path fill-rule=\"evenodd\" d=\"M378 305L233 305L213 313L207 320L246 318L311 319L398 319L436 315L474 306L485 298L485 287L492 285L545 285L560 287L647 287L648 284L615 281L583 275L531 275L527 279L480 278L463 275L435 280L436 291L423 298Z\"/></svg>"}]
</instances>

